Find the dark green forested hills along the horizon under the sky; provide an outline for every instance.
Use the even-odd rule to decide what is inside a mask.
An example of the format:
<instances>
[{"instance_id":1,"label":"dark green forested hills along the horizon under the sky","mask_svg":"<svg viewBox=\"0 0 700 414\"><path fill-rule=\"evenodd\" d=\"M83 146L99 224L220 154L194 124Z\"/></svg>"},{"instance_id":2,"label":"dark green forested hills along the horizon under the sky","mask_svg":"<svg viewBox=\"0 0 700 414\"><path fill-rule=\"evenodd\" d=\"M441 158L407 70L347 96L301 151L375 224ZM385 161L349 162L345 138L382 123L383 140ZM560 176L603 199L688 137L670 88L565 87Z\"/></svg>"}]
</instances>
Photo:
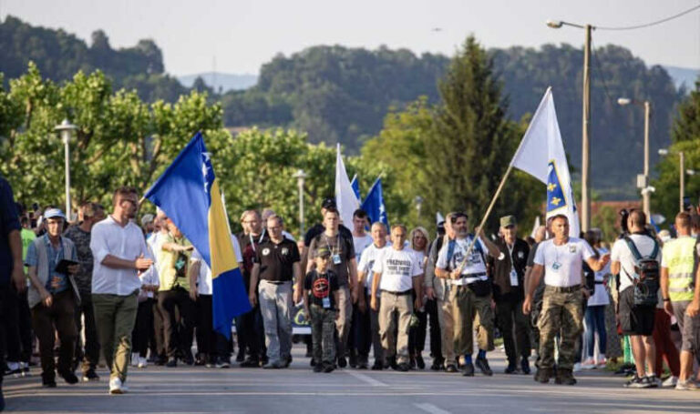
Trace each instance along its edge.
<instances>
[{"instance_id":1,"label":"dark green forested hills along the horizon under the sky","mask_svg":"<svg viewBox=\"0 0 700 414\"><path fill-rule=\"evenodd\" d=\"M63 30L27 25L8 16L0 24L0 56L5 84L23 74L33 60L43 76L54 80L99 68L115 87L135 88L148 101L172 102L189 90L165 73L158 45L142 40L133 47L113 49L102 31L95 32L87 45ZM552 86L564 145L571 166L579 168L581 48L515 46L491 49L489 56L513 119L534 112L547 86ZM319 45L291 56L274 56L262 66L257 85L244 91L218 95L201 79L192 87L221 100L226 126L294 127L307 132L312 142L340 142L348 152L357 153L365 138L381 130L390 107L400 110L418 96L438 104L437 85L448 62L449 56L417 56L405 49ZM654 163L656 149L670 142L674 107L683 93L661 66L647 67L629 50L606 45L592 57L591 96L592 187L606 199L634 197L634 176L643 167L643 110L618 106L616 100L627 96L652 102Z\"/></svg>"}]
</instances>

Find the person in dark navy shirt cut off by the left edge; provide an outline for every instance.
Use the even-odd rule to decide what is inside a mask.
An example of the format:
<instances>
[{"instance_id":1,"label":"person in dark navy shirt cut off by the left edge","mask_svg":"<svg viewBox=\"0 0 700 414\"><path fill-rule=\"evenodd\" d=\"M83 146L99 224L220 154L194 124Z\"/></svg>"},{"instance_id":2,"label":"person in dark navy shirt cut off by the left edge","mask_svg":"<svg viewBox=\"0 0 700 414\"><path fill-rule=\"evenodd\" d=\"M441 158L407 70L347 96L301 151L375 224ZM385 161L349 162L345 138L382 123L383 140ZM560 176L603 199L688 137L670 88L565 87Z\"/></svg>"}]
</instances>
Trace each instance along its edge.
<instances>
[{"instance_id":1,"label":"person in dark navy shirt cut off by the left edge","mask_svg":"<svg viewBox=\"0 0 700 414\"><path fill-rule=\"evenodd\" d=\"M9 300L10 296L23 292L26 288L22 267L22 237L19 234L21 228L12 187L0 175L0 367L5 366L5 318L13 315L6 307L15 303L14 300ZM0 375L0 411L3 409L3 376Z\"/></svg>"}]
</instances>

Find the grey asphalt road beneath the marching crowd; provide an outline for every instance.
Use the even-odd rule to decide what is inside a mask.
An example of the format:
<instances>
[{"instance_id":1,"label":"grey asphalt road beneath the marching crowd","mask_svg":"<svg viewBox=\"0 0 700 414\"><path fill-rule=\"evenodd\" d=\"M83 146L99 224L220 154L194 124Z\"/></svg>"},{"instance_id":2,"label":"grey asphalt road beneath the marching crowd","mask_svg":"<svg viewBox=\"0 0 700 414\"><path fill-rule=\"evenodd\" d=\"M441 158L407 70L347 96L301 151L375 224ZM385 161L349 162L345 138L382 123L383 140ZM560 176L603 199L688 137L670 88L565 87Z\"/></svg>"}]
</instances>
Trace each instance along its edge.
<instances>
[{"instance_id":1,"label":"grey asphalt road beneath the marching crowd","mask_svg":"<svg viewBox=\"0 0 700 414\"><path fill-rule=\"evenodd\" d=\"M5 379L7 411L31 413L668 413L700 412L700 391L623 389L624 380L599 370L581 373L573 387L540 385L531 376L500 374L503 354L492 353L492 378L472 379L430 370L339 369L314 373L295 346L290 369L149 367L129 371L129 393L110 396L103 380L43 389L33 377Z\"/></svg>"}]
</instances>

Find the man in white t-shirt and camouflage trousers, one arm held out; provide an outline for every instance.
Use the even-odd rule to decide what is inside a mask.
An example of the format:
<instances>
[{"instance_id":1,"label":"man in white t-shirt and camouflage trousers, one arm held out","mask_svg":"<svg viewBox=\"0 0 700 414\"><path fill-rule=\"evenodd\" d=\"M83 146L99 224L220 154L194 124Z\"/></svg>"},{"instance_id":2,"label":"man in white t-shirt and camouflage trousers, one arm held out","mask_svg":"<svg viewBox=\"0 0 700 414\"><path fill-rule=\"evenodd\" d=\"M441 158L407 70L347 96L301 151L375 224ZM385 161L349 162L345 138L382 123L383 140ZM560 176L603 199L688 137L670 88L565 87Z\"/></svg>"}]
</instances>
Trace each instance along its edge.
<instances>
[{"instance_id":1,"label":"man in white t-shirt and camouflage trousers, one arm held out","mask_svg":"<svg viewBox=\"0 0 700 414\"><path fill-rule=\"evenodd\" d=\"M569 237L569 218L558 215L551 220L554 238L542 241L537 247L534 266L522 312L530 314L532 295L544 273L544 295L538 320L540 328L540 365L535 380L547 383L554 368L554 338L560 334L557 384L574 385L573 359L576 340L583 328L582 303L587 298L583 278L583 261L593 271L599 271L610 261L610 255L594 257L591 246L578 237Z\"/></svg>"}]
</instances>

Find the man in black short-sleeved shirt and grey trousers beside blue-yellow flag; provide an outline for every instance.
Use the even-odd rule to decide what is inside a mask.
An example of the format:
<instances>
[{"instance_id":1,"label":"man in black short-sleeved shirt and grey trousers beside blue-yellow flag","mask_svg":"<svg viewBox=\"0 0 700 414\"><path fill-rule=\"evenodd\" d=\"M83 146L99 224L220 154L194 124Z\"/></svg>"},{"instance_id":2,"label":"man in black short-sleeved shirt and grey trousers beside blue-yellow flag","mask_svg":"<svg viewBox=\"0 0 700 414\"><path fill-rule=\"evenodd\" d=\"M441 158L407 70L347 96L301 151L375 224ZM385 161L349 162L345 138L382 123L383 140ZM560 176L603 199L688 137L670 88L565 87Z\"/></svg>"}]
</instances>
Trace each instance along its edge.
<instances>
[{"instance_id":1,"label":"man in black short-sleeved shirt and grey trousers beside blue-yellow flag","mask_svg":"<svg viewBox=\"0 0 700 414\"><path fill-rule=\"evenodd\" d=\"M263 368L287 368L292 362L292 286L302 287L299 249L292 240L283 237L282 217L267 219L270 239L255 251L251 272L249 298L255 306L258 296L265 329L268 363ZM260 284L258 285L258 280Z\"/></svg>"}]
</instances>

